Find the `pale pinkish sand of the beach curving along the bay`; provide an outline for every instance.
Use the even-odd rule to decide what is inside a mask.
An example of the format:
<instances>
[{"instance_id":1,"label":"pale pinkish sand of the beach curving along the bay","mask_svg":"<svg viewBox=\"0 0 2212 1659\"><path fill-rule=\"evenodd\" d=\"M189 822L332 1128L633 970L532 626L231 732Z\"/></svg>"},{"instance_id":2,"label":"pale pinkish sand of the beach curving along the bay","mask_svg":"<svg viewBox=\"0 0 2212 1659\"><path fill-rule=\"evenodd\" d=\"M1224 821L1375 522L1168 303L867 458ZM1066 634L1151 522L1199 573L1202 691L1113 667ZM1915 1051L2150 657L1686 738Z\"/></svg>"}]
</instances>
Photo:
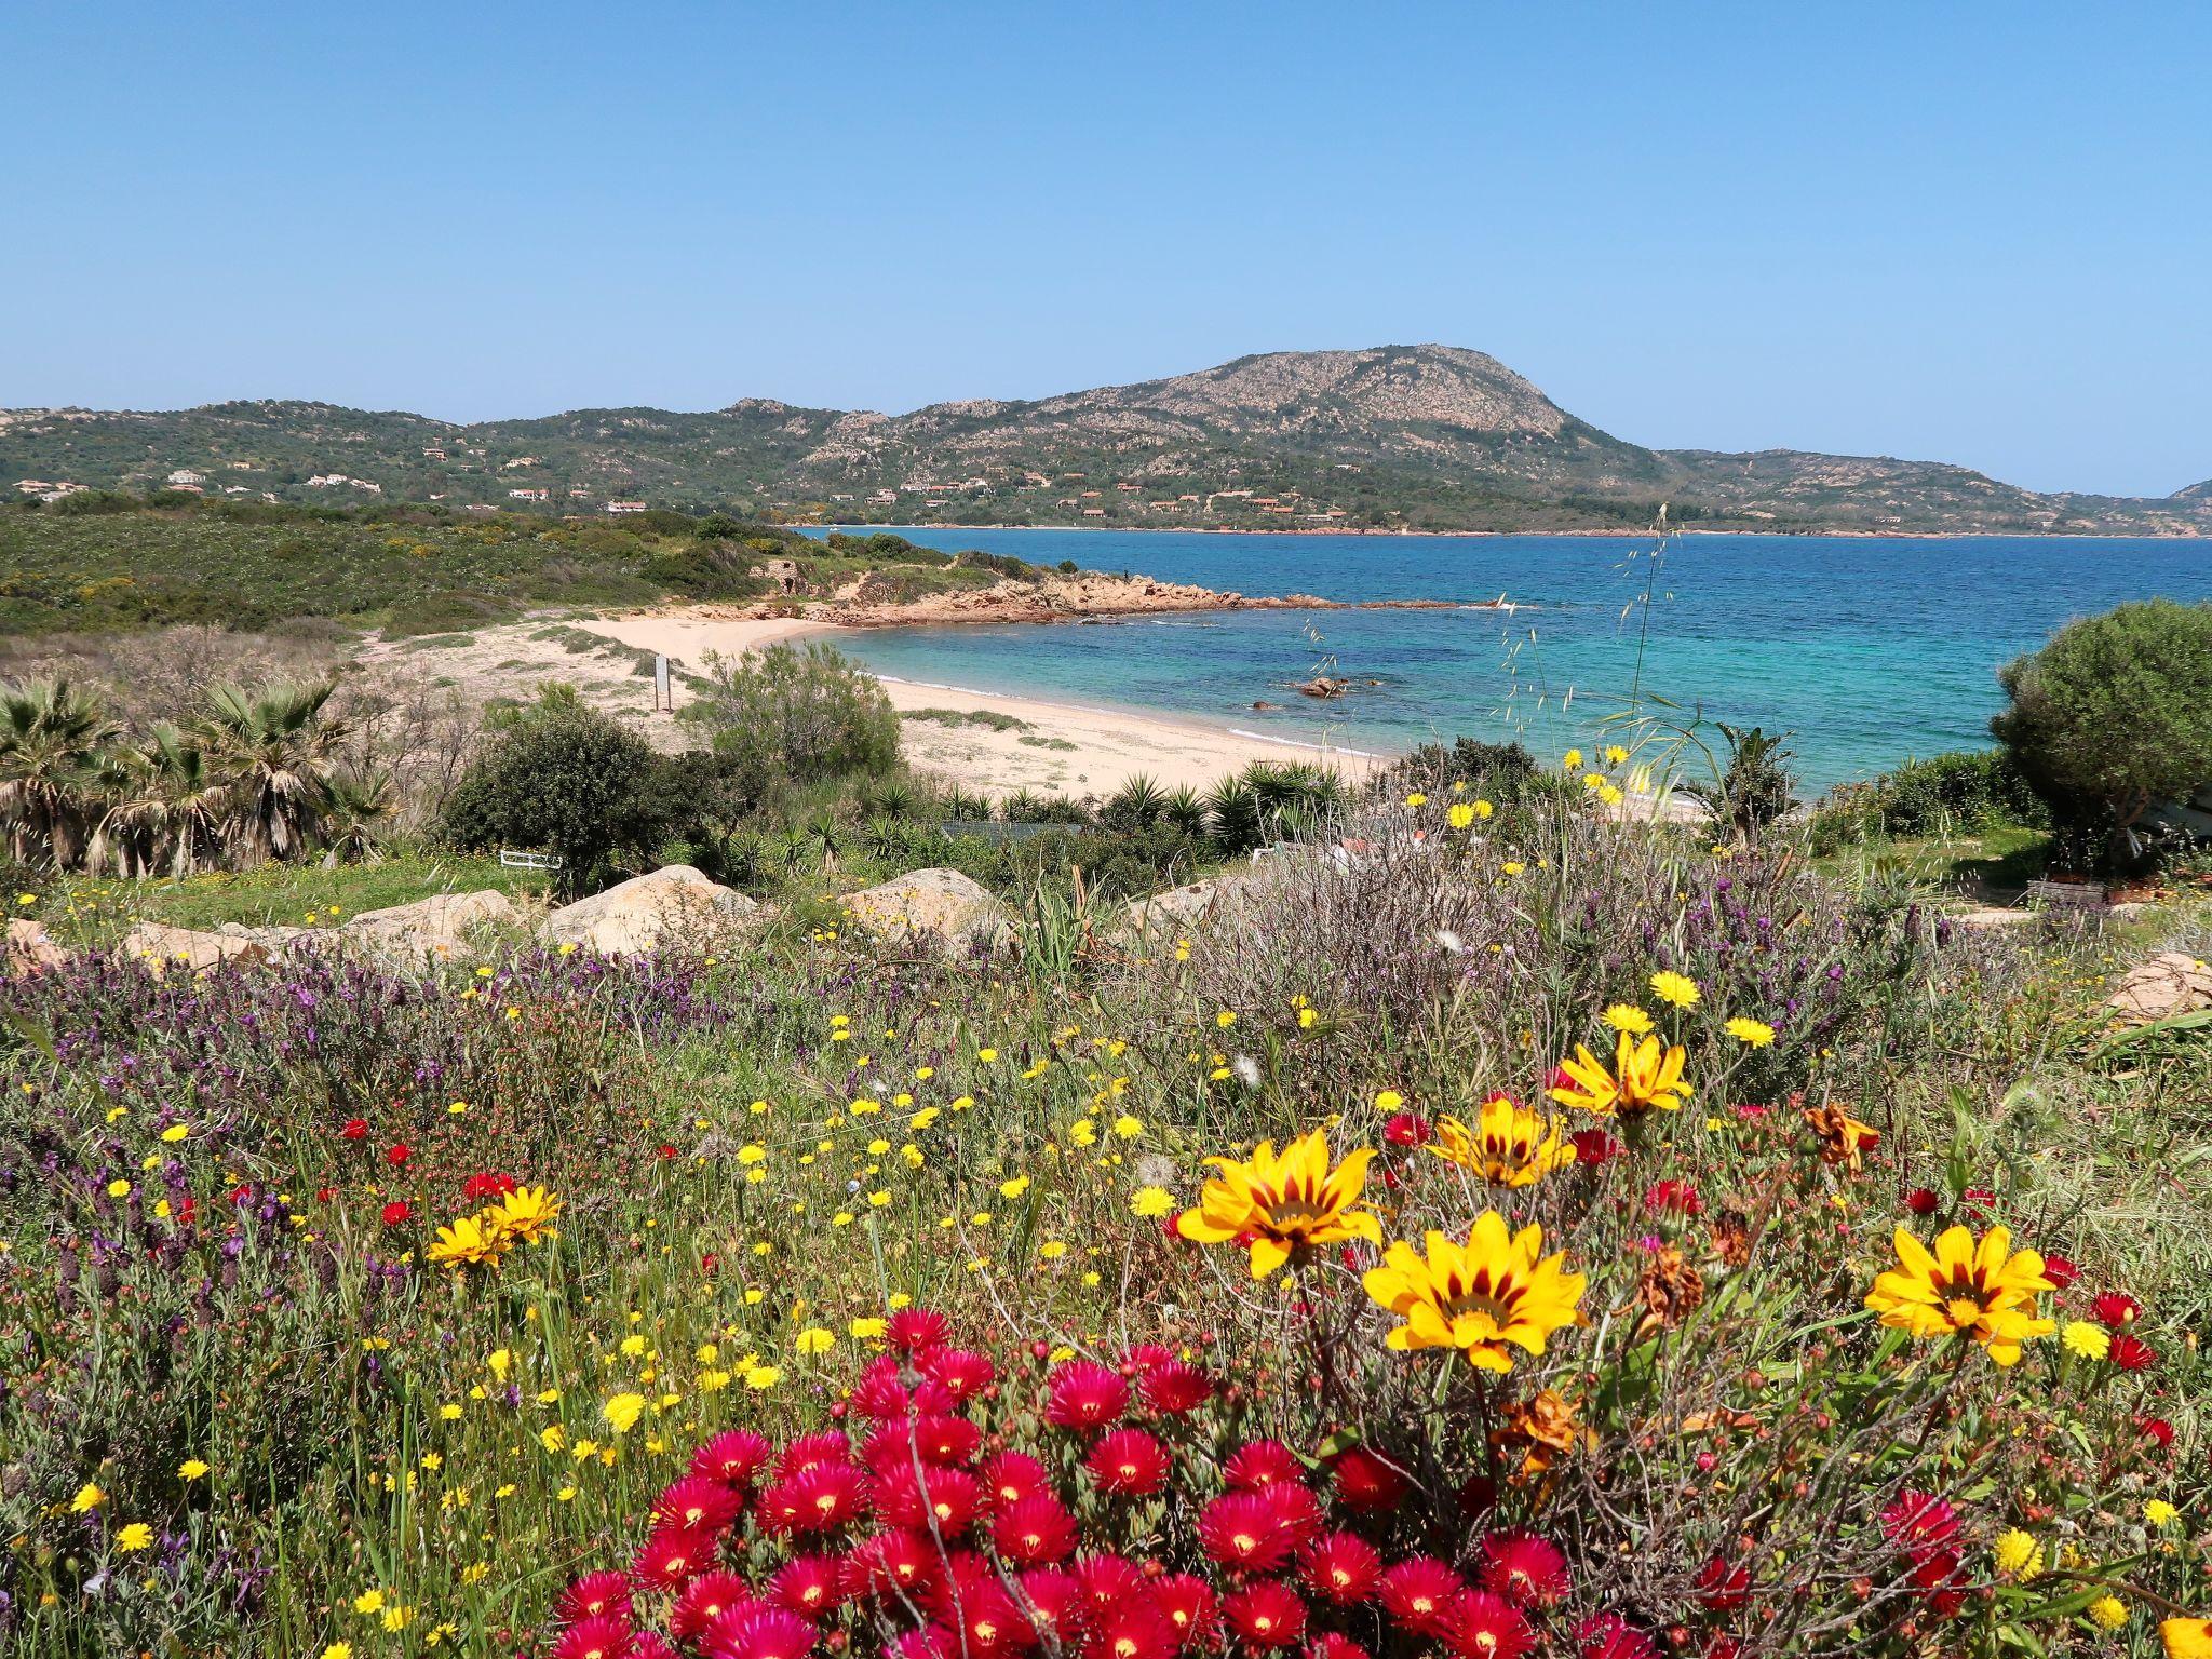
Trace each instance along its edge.
<instances>
[{"instance_id":1,"label":"pale pinkish sand of the beach curving along the bay","mask_svg":"<svg viewBox=\"0 0 2212 1659\"><path fill-rule=\"evenodd\" d=\"M577 626L626 646L679 657L692 670L703 664L708 653L737 655L779 639L834 639L847 633L827 622L745 617L717 606L602 617ZM1365 776L1376 765L1374 757L1349 750L1316 750L1301 743L1239 737L1225 728L1170 714L1130 714L1035 697L911 686L896 679L885 679L883 690L891 699L891 708L902 714L951 710L1020 721L1006 730L905 721L905 750L916 768L991 794L1013 790L1053 790L1071 796L1110 794L1139 774L1168 790L1186 783L1203 790L1252 761L1316 761L1354 779Z\"/></svg>"}]
</instances>

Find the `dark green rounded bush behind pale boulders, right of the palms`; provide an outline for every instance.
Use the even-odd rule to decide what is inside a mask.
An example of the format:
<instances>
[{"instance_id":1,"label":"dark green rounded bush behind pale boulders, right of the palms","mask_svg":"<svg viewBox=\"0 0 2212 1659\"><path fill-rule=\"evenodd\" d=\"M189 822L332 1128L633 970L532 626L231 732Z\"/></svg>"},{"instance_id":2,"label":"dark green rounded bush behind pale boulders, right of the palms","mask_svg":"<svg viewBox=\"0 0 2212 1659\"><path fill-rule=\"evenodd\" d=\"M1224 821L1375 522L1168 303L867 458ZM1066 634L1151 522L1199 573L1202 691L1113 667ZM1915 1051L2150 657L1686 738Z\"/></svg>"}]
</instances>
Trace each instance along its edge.
<instances>
[{"instance_id":1,"label":"dark green rounded bush behind pale boulders, right of the palms","mask_svg":"<svg viewBox=\"0 0 2212 1659\"><path fill-rule=\"evenodd\" d=\"M668 834L661 759L575 690L549 686L491 734L445 803L445 834L465 852L551 852L560 889L588 891L615 858L644 860Z\"/></svg>"}]
</instances>

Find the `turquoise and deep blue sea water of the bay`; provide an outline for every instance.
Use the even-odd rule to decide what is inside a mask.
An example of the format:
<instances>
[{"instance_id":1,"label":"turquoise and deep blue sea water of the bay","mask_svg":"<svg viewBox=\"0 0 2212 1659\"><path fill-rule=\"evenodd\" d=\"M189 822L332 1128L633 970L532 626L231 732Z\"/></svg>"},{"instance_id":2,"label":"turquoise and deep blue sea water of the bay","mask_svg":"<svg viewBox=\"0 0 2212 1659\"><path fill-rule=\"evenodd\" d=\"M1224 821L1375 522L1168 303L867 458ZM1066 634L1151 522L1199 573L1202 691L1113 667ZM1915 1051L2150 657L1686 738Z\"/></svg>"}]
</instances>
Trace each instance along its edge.
<instances>
[{"instance_id":1,"label":"turquoise and deep blue sea water of the bay","mask_svg":"<svg viewBox=\"0 0 2212 1659\"><path fill-rule=\"evenodd\" d=\"M1604 741L1641 664L1646 708L1661 697L1681 717L1794 732L1812 787L1984 745L2004 701L1997 666L2068 617L2212 597L2203 540L1683 535L1655 562L1650 540L1586 535L907 533L1239 593L1504 595L1522 608L1243 611L841 641L898 679L1168 710L1292 743L1391 752L1520 737L1544 754ZM1332 703L1290 690L1316 668L1378 684Z\"/></svg>"}]
</instances>

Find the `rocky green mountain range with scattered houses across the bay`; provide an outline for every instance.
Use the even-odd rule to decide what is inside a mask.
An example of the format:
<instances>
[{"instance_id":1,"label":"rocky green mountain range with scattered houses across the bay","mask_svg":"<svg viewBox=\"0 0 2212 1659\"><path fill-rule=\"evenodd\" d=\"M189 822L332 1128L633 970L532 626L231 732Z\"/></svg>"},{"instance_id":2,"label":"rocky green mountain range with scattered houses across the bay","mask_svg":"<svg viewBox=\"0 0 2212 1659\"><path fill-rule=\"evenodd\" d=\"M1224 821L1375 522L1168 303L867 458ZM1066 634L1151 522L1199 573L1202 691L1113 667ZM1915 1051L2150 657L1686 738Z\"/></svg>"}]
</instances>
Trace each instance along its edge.
<instances>
[{"instance_id":1,"label":"rocky green mountain range with scattered houses across the bay","mask_svg":"<svg viewBox=\"0 0 2212 1659\"><path fill-rule=\"evenodd\" d=\"M0 480L272 500L611 502L898 524L2212 533L2212 484L2039 495L1940 462L1644 449L1482 352L1270 352L911 414L575 409L451 425L325 403L0 411ZM540 493L542 491L542 493Z\"/></svg>"}]
</instances>

